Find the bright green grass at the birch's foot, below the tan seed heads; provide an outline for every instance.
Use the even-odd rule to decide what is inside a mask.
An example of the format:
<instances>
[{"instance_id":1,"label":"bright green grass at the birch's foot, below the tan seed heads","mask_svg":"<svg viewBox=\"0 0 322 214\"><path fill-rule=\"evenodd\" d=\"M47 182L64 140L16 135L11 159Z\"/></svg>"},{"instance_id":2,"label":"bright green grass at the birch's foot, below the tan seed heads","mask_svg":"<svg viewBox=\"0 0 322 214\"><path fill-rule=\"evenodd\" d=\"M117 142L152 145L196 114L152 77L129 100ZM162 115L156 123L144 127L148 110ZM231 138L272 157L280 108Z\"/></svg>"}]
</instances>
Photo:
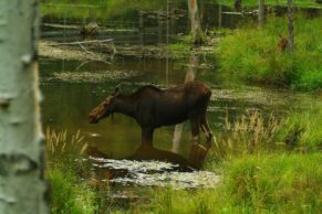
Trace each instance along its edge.
<instances>
[{"instance_id":1,"label":"bright green grass at the birch's foot, below the tan seed heads","mask_svg":"<svg viewBox=\"0 0 322 214\"><path fill-rule=\"evenodd\" d=\"M51 211L53 214L93 214L95 194L80 183L72 170L54 168L49 171L51 182Z\"/></svg>"}]
</instances>

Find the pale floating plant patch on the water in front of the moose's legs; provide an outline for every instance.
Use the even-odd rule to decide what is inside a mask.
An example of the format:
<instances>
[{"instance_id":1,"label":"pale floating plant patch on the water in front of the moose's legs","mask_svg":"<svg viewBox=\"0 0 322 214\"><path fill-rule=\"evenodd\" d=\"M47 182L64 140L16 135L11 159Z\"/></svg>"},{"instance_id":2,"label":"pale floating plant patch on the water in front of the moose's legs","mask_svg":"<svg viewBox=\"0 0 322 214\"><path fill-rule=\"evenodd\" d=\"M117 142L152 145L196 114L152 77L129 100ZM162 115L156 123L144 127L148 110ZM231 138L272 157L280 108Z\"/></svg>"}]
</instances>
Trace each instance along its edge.
<instances>
[{"instance_id":1,"label":"pale floating plant patch on the water in front of the moose's legs","mask_svg":"<svg viewBox=\"0 0 322 214\"><path fill-rule=\"evenodd\" d=\"M212 189L220 181L219 175L208 171L178 171L179 165L155 160L114 160L93 158L93 167L108 171L124 171L108 182L122 185L172 186L173 189Z\"/></svg>"}]
</instances>

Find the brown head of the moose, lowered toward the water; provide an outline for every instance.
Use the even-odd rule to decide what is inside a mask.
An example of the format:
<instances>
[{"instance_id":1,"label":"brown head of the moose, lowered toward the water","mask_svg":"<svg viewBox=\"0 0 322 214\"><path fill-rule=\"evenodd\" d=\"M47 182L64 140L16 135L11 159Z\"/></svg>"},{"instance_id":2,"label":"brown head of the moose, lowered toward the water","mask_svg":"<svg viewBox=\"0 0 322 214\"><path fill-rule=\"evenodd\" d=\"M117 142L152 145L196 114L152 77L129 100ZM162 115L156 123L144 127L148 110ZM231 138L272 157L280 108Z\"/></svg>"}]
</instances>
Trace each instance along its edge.
<instances>
[{"instance_id":1,"label":"brown head of the moose, lowered toward the water","mask_svg":"<svg viewBox=\"0 0 322 214\"><path fill-rule=\"evenodd\" d=\"M114 113L116 106L116 97L120 95L120 85L117 85L104 101L96 106L89 116L90 124L97 124L101 119L108 117Z\"/></svg>"}]
</instances>

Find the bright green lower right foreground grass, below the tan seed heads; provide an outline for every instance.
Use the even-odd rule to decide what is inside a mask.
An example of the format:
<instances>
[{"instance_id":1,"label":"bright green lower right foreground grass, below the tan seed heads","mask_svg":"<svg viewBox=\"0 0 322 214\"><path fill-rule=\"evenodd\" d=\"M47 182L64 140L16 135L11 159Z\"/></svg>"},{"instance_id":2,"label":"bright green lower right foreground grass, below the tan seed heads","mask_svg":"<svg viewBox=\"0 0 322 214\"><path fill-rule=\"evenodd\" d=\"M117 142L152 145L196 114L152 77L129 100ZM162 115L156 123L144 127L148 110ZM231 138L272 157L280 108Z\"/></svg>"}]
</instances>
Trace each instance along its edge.
<instances>
[{"instance_id":1,"label":"bright green lower right foreground grass, below the tan seed heads","mask_svg":"<svg viewBox=\"0 0 322 214\"><path fill-rule=\"evenodd\" d=\"M129 213L319 213L321 153L246 156L225 162L212 190L157 189Z\"/></svg>"}]
</instances>

